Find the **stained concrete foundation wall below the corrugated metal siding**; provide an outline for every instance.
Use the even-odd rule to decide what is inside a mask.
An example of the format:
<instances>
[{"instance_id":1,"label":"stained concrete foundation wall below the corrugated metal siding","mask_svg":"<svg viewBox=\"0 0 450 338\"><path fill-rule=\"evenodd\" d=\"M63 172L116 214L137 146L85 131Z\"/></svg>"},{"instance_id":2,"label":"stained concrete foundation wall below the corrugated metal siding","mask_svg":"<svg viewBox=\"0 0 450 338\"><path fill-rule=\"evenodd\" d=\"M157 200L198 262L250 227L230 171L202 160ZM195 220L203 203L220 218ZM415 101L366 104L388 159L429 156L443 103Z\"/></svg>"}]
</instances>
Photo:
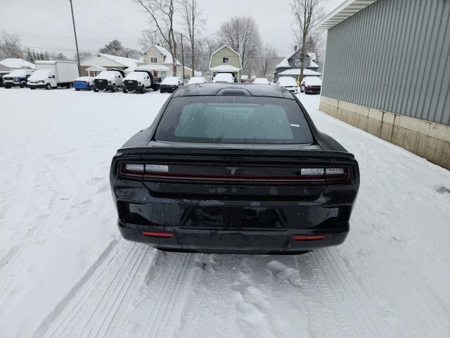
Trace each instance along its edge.
<instances>
[{"instance_id":1,"label":"stained concrete foundation wall below the corrugated metal siding","mask_svg":"<svg viewBox=\"0 0 450 338\"><path fill-rule=\"evenodd\" d=\"M320 110L450 169L450 127L321 96Z\"/></svg>"}]
</instances>

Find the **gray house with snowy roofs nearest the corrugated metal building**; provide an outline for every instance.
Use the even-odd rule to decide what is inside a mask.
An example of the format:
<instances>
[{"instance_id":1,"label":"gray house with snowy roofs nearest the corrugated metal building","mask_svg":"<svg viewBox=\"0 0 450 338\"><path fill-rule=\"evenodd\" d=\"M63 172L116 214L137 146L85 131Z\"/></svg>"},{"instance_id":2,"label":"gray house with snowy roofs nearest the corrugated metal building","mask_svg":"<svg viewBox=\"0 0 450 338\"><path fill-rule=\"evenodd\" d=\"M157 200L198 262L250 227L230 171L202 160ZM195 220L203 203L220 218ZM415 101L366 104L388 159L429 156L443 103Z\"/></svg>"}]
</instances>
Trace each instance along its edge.
<instances>
[{"instance_id":1,"label":"gray house with snowy roofs nearest the corrugated metal building","mask_svg":"<svg viewBox=\"0 0 450 338\"><path fill-rule=\"evenodd\" d=\"M300 72L301 72L301 51L296 49L293 54L287 58L283 58L281 63L278 63L275 67L275 79L278 80L279 77L289 76L294 77L297 82L300 82ZM319 65L316 63L316 54L307 53L304 56L304 70L303 76L320 76L321 73L318 72ZM299 83L300 85L300 83Z\"/></svg>"}]
</instances>

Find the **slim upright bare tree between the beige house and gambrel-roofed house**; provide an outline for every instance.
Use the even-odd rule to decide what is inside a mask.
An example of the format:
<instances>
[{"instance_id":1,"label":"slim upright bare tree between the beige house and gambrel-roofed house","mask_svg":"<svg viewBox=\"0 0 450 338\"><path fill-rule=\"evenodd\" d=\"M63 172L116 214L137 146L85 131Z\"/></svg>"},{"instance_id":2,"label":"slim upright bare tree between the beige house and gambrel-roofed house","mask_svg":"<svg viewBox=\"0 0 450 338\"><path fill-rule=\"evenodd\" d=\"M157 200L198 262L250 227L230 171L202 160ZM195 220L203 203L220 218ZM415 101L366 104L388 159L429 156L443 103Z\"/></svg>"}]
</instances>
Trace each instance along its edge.
<instances>
[{"instance_id":1,"label":"slim upright bare tree between the beige house and gambrel-roofed house","mask_svg":"<svg viewBox=\"0 0 450 338\"><path fill-rule=\"evenodd\" d=\"M181 0L181 8L183 13L183 21L186 28L186 32L189 39L191 49L191 68L194 76L195 71L195 51L198 49L198 43L196 37L199 30L203 27L203 19L201 18L200 9L197 6L196 0Z\"/></svg>"}]
</instances>

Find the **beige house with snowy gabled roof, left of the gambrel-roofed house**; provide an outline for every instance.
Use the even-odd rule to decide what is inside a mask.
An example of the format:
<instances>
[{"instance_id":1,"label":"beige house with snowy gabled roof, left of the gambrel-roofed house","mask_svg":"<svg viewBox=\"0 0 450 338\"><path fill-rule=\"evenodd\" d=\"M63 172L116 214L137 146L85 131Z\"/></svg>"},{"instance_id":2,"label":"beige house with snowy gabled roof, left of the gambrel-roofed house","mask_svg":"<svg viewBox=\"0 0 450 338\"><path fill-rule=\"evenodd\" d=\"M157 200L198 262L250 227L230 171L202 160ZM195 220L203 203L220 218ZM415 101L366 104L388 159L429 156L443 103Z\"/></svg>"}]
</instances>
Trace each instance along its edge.
<instances>
[{"instance_id":1,"label":"beige house with snowy gabled roof, left of the gambrel-roofed house","mask_svg":"<svg viewBox=\"0 0 450 338\"><path fill-rule=\"evenodd\" d=\"M139 59L145 63L147 68L153 69L153 75L165 78L173 76L174 58L172 54L159 44L151 44ZM192 69L184 67L184 77L188 80L192 75ZM176 76L183 77L183 67L181 62L176 60Z\"/></svg>"}]
</instances>

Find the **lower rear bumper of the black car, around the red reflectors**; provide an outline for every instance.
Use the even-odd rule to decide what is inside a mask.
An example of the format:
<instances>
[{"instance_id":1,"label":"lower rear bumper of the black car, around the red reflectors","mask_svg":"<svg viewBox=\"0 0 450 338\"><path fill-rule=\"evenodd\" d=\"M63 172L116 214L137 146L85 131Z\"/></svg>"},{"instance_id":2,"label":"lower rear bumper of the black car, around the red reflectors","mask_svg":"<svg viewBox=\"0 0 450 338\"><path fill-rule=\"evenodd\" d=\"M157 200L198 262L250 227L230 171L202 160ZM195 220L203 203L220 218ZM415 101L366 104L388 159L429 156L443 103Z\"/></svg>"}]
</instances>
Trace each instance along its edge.
<instances>
[{"instance_id":1,"label":"lower rear bumper of the black car, around the red reflectors","mask_svg":"<svg viewBox=\"0 0 450 338\"><path fill-rule=\"evenodd\" d=\"M124 239L169 251L204 253L301 253L342 244L348 223L314 230L198 230L184 227L140 226L118 222ZM150 235L148 235L150 233ZM158 237L158 234L171 237ZM295 240L294 236L319 235L323 239Z\"/></svg>"}]
</instances>

